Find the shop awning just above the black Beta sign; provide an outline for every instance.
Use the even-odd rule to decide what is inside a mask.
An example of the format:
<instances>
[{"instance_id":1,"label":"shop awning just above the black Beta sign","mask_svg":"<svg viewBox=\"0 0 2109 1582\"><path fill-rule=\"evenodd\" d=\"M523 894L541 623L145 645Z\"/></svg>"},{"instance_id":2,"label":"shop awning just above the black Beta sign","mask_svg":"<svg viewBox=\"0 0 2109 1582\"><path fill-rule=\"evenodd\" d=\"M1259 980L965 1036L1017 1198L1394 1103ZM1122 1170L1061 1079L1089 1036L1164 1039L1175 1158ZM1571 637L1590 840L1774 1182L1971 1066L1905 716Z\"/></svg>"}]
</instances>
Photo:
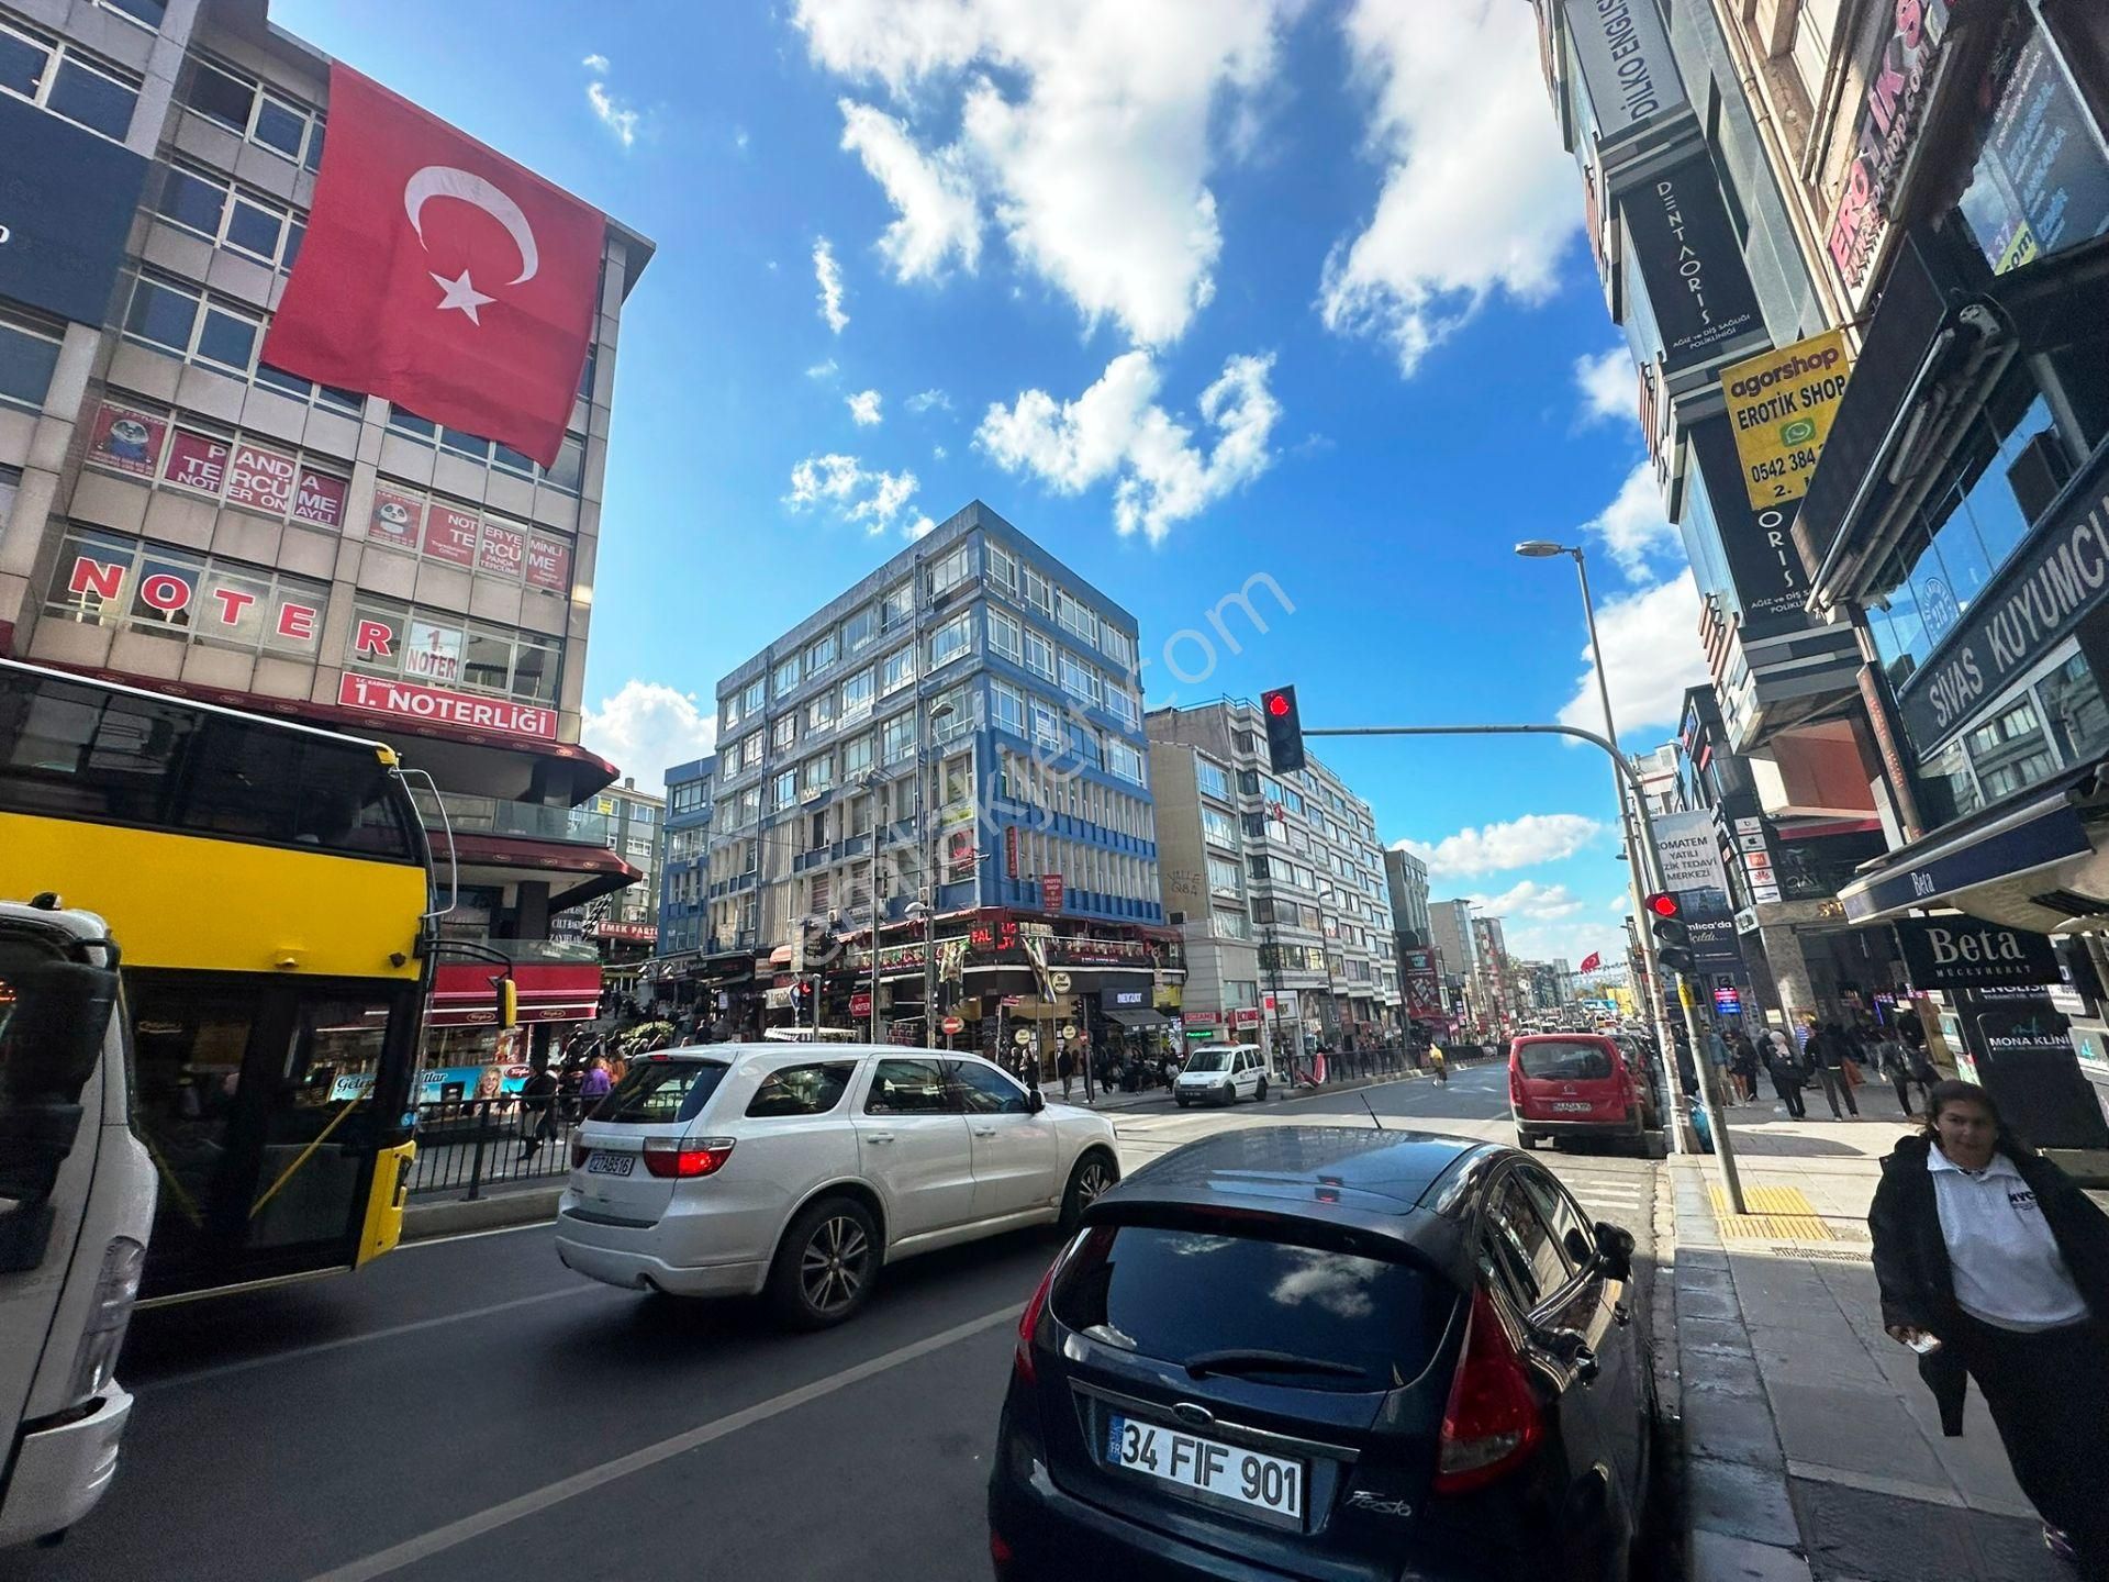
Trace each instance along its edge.
<instances>
[{"instance_id":1,"label":"shop awning just above the black Beta sign","mask_svg":"<svg viewBox=\"0 0 2109 1582\"><path fill-rule=\"evenodd\" d=\"M1991 922L2056 932L2109 911L2090 892L2109 867L2094 854L2079 804L2092 804L2103 764L2069 770L1866 865L1839 901L1856 924L1915 907L1959 907Z\"/></svg>"}]
</instances>

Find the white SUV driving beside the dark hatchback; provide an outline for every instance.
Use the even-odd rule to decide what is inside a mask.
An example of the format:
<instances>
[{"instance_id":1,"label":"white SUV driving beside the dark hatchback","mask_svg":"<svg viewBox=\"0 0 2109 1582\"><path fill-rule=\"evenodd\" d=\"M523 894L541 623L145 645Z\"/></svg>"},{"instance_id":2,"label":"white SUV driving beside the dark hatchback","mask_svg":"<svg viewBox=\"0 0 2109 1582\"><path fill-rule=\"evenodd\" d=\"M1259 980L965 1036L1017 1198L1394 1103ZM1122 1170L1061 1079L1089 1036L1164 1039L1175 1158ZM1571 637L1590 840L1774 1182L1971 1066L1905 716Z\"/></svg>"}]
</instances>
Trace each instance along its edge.
<instances>
[{"instance_id":1,"label":"white SUV driving beside the dark hatchback","mask_svg":"<svg viewBox=\"0 0 2109 1582\"><path fill-rule=\"evenodd\" d=\"M976 1055L669 1048L578 1128L557 1255L637 1291L766 1293L820 1329L865 1306L882 1263L1069 1228L1118 1179L1111 1122Z\"/></svg>"}]
</instances>

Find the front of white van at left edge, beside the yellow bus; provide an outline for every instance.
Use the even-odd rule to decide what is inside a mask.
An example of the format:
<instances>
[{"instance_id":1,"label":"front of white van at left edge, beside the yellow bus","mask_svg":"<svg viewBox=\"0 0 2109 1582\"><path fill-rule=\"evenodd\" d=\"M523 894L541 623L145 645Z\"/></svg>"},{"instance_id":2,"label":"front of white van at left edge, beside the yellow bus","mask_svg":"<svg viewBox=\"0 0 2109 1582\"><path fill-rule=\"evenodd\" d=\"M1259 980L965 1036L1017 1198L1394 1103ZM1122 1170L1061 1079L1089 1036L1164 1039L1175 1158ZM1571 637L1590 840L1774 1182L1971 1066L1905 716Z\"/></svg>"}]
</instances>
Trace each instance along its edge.
<instances>
[{"instance_id":1,"label":"front of white van at left edge, beside the yellow bus","mask_svg":"<svg viewBox=\"0 0 2109 1582\"><path fill-rule=\"evenodd\" d=\"M0 1548L57 1542L116 1477L116 1363L154 1226L131 1131L118 947L0 901Z\"/></svg>"}]
</instances>

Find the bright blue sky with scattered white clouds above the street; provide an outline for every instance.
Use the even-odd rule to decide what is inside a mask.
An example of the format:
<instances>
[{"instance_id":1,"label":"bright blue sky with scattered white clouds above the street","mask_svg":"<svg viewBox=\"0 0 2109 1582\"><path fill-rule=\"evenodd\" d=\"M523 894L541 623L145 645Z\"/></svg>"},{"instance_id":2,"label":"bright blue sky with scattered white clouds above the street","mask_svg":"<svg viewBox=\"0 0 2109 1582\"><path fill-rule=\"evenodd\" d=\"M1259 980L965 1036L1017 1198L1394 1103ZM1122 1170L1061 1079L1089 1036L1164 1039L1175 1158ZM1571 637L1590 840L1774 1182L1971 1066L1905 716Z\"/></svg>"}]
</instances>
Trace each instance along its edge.
<instances>
[{"instance_id":1,"label":"bright blue sky with scattered white clouds above the street","mask_svg":"<svg viewBox=\"0 0 2109 1582\"><path fill-rule=\"evenodd\" d=\"M272 17L658 243L586 675L586 740L641 783L707 745L723 671L976 496L1137 614L1152 705L1592 724L1533 536L1590 548L1628 747L1704 675L1521 0ZM1255 574L1293 612L1181 686L1164 639ZM1525 953L1613 951L1594 753L1324 757Z\"/></svg>"}]
</instances>

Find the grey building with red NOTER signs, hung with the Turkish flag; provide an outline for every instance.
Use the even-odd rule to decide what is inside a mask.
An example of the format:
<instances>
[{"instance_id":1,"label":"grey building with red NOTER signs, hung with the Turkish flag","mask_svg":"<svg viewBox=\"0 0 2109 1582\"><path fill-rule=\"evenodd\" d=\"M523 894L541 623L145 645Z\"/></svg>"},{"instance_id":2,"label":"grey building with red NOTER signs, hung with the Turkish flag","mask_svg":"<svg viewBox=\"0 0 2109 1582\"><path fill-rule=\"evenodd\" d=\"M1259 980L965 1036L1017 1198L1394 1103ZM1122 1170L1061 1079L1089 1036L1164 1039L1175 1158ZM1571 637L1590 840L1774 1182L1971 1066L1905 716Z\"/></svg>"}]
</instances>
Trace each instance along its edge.
<instances>
[{"instance_id":1,"label":"grey building with red NOTER signs, hung with the Turkish flag","mask_svg":"<svg viewBox=\"0 0 2109 1582\"><path fill-rule=\"evenodd\" d=\"M534 947L550 918L637 880L580 806L616 768L578 730L652 243L607 226L542 468L262 361L329 110L329 59L262 0L8 0L0 57L0 654L388 740L445 802L445 928L569 962ZM531 979L523 1015L561 1010Z\"/></svg>"}]
</instances>

